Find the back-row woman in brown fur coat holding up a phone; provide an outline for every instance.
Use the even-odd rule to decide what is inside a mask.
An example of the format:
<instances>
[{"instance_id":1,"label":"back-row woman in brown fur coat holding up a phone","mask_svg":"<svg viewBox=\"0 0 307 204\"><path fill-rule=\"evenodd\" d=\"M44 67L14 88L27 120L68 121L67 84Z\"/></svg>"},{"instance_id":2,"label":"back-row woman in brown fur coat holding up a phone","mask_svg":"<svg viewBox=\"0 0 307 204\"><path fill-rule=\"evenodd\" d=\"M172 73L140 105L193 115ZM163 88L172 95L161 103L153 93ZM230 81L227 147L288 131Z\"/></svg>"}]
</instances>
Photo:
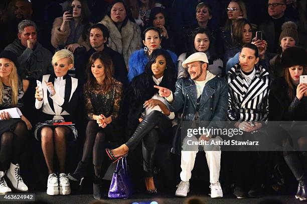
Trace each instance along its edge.
<instances>
[{"instance_id":1,"label":"back-row woman in brown fur coat holding up a phone","mask_svg":"<svg viewBox=\"0 0 307 204\"><path fill-rule=\"evenodd\" d=\"M72 14L65 11L63 17L57 17L51 30L51 44L57 48L65 45L74 52L84 46L89 50L90 44L86 34L89 27L90 10L86 0L71 0ZM64 47L62 47L64 48Z\"/></svg>"}]
</instances>

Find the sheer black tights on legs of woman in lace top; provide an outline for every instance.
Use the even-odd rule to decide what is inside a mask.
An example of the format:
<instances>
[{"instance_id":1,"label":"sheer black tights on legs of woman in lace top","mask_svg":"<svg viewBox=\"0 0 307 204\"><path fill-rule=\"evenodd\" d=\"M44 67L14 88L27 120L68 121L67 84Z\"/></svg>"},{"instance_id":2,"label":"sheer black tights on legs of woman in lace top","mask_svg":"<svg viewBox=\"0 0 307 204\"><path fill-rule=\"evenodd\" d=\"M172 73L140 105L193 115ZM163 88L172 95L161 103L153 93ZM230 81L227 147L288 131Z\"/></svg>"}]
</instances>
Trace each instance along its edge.
<instances>
[{"instance_id":1,"label":"sheer black tights on legs of woman in lace top","mask_svg":"<svg viewBox=\"0 0 307 204\"><path fill-rule=\"evenodd\" d=\"M99 176L101 172L102 162L106 154L106 144L107 139L104 129L98 126L96 120L90 120L86 126L86 139L83 147L82 161L89 162L89 159L93 155L96 176Z\"/></svg>"}]
</instances>

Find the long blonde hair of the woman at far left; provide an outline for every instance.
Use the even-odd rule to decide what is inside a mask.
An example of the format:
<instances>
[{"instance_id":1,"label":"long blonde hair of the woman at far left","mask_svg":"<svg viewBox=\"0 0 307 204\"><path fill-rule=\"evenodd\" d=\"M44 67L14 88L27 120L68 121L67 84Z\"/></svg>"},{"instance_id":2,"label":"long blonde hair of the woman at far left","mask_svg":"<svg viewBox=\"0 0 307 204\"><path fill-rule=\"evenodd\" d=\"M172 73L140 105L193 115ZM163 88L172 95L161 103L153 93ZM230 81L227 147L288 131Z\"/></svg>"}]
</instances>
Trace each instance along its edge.
<instances>
[{"instance_id":1,"label":"long blonde hair of the woman at far left","mask_svg":"<svg viewBox=\"0 0 307 204\"><path fill-rule=\"evenodd\" d=\"M18 86L19 86L19 79L17 74L17 68L13 61L12 64L12 71L9 75L9 83L12 87L12 106L15 106L18 102ZM0 77L0 104L4 102L4 85L2 82L2 78Z\"/></svg>"}]
</instances>

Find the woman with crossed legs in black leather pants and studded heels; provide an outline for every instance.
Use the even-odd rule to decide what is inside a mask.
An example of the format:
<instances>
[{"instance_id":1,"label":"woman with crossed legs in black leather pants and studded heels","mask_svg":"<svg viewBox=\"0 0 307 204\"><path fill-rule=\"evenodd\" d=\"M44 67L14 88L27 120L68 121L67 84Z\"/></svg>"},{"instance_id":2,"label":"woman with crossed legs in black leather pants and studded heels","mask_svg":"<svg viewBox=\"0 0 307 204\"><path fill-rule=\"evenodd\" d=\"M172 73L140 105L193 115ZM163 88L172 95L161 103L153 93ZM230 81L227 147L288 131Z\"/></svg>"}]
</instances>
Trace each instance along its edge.
<instances>
[{"instance_id":1,"label":"woman with crossed legs in black leather pants and studded heels","mask_svg":"<svg viewBox=\"0 0 307 204\"><path fill-rule=\"evenodd\" d=\"M174 91L175 71L175 64L167 50L156 49L151 53L145 72L133 78L125 97L124 109L128 109L126 132L128 136L132 136L120 147L106 149L110 158L115 161L128 151L133 151L142 141L143 169L148 193L157 193L153 177L155 151L159 140L171 138L171 120L175 117L154 85ZM163 135L161 132L164 132Z\"/></svg>"}]
</instances>

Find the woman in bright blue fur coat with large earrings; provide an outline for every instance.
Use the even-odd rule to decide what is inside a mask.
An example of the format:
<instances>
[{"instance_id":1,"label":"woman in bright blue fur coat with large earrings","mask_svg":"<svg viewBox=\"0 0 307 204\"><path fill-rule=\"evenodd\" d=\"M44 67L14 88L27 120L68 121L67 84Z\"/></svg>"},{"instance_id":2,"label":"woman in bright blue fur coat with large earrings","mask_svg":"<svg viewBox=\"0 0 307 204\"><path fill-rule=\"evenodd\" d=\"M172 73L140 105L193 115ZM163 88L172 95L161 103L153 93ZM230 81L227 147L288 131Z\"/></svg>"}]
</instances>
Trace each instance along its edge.
<instances>
[{"instance_id":1,"label":"woman in bright blue fur coat with large earrings","mask_svg":"<svg viewBox=\"0 0 307 204\"><path fill-rule=\"evenodd\" d=\"M149 56L155 49L161 48L161 32L156 27L148 27L142 34L144 49L139 49L133 52L129 58L128 79L129 82L137 75L145 70L145 65L149 61ZM173 62L176 64L177 55L167 50ZM176 68L177 74L177 68Z\"/></svg>"}]
</instances>

